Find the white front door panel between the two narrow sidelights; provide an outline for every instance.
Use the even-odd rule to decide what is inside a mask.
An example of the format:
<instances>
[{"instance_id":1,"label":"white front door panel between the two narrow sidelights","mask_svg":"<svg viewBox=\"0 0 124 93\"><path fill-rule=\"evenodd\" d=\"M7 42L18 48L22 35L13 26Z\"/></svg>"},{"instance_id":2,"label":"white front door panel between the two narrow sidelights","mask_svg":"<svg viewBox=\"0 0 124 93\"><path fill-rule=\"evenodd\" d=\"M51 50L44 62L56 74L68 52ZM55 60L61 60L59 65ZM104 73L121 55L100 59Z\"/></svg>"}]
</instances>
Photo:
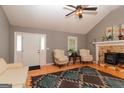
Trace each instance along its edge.
<instances>
[{"instance_id":1,"label":"white front door panel between the two narrow sidelights","mask_svg":"<svg viewBox=\"0 0 124 93\"><path fill-rule=\"evenodd\" d=\"M25 66L40 65L40 35L23 33L23 63Z\"/></svg>"}]
</instances>

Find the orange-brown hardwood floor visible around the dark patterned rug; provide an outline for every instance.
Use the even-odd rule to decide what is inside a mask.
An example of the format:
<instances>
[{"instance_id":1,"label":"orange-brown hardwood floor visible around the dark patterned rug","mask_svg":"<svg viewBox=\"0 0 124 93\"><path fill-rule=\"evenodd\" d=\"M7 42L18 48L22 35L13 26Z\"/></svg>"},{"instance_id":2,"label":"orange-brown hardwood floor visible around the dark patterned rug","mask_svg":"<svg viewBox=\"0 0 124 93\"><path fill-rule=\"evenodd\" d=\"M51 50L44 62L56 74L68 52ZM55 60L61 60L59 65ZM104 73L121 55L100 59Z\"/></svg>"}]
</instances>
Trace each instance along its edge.
<instances>
[{"instance_id":1,"label":"orange-brown hardwood floor visible around the dark patterned rug","mask_svg":"<svg viewBox=\"0 0 124 93\"><path fill-rule=\"evenodd\" d=\"M28 78L26 81L26 87L30 88L31 86L31 77L32 76L37 76L37 75L42 75L42 74L47 74L47 73L52 73L52 72L58 72L58 71L64 71L64 70L68 70L68 69L73 69L73 68L79 68L79 67L83 67L83 66L90 66L92 68L95 68L97 70L106 72L106 73L110 73L116 77L120 77L124 79L124 69L122 68L110 68L109 66L99 66L96 64L80 64L80 63L76 63L76 64L69 64L68 66L63 66L61 68L55 66L55 65L48 65L48 66L43 66L41 67L41 69L39 70L33 70L33 71L29 71L28 72ZM122 71L122 72L120 72Z\"/></svg>"}]
</instances>

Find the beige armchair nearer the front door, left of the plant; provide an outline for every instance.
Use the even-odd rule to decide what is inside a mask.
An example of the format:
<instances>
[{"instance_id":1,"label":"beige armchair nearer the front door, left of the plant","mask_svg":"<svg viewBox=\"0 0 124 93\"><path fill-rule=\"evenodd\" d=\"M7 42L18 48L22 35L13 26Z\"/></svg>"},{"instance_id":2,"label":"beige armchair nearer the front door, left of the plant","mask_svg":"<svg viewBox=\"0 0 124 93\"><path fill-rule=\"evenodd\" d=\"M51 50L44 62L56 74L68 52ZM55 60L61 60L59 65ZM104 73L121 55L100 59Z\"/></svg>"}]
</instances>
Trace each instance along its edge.
<instances>
[{"instance_id":1,"label":"beige armchair nearer the front door, left of the plant","mask_svg":"<svg viewBox=\"0 0 124 93\"><path fill-rule=\"evenodd\" d=\"M68 57L65 56L64 50L61 50L61 49L55 49L54 50L54 62L58 66L68 64Z\"/></svg>"}]
</instances>

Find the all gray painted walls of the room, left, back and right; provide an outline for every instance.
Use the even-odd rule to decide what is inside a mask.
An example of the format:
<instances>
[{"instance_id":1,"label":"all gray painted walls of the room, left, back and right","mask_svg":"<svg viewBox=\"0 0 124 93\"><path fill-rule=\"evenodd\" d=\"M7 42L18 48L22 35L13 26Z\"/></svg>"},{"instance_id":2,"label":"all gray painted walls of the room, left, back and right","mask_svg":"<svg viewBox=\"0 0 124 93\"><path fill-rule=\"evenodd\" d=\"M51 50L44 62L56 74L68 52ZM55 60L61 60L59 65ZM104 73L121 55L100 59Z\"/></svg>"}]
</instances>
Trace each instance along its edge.
<instances>
[{"instance_id":1,"label":"all gray painted walls of the room, left, back and right","mask_svg":"<svg viewBox=\"0 0 124 93\"><path fill-rule=\"evenodd\" d=\"M88 48L95 55L94 40L100 41L104 35L106 27L124 24L124 6L112 11L102 21L100 21L86 36L67 32L56 32L44 29L32 29L17 26L9 26L8 20L0 7L0 57L7 62L14 62L14 31L44 33L47 34L47 63L53 62L52 51L54 48L61 48L67 51L67 37L78 37L78 48ZM10 27L10 29L9 29ZM10 32L9 32L10 30ZM85 42L86 40L86 42Z\"/></svg>"}]
</instances>

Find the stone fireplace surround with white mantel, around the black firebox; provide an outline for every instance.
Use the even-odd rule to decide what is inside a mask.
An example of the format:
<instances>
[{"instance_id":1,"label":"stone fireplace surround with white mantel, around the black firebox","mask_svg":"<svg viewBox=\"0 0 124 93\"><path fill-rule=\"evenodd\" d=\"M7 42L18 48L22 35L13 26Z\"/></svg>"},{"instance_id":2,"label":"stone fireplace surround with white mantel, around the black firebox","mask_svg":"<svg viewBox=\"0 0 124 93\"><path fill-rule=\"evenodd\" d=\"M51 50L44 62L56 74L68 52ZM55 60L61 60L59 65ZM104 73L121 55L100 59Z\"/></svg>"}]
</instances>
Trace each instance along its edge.
<instances>
[{"instance_id":1,"label":"stone fireplace surround with white mantel, around the black firebox","mask_svg":"<svg viewBox=\"0 0 124 93\"><path fill-rule=\"evenodd\" d=\"M124 40L93 42L93 44L96 46L95 62L97 64L105 63L105 53L124 53Z\"/></svg>"}]
</instances>

